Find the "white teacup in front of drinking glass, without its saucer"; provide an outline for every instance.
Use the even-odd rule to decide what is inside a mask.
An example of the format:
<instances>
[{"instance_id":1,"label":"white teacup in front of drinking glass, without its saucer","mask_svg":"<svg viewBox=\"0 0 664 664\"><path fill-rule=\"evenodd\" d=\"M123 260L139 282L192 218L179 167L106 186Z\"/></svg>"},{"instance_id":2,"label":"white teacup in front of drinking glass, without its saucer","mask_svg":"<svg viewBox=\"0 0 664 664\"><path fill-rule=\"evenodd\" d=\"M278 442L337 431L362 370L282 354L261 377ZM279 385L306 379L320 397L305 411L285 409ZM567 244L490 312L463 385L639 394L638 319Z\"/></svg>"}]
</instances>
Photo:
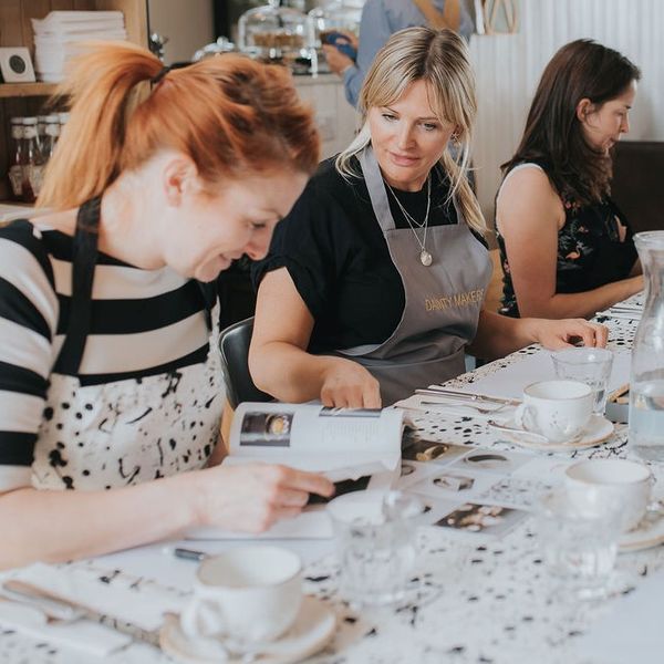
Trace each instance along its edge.
<instances>
[{"instance_id":1,"label":"white teacup in front of drinking glass, without its saucer","mask_svg":"<svg viewBox=\"0 0 664 664\"><path fill-rule=\"evenodd\" d=\"M592 406L592 390L583 383L540 381L523 390L523 403L515 413L515 422L551 443L569 443L583 435Z\"/></svg>"}]
</instances>

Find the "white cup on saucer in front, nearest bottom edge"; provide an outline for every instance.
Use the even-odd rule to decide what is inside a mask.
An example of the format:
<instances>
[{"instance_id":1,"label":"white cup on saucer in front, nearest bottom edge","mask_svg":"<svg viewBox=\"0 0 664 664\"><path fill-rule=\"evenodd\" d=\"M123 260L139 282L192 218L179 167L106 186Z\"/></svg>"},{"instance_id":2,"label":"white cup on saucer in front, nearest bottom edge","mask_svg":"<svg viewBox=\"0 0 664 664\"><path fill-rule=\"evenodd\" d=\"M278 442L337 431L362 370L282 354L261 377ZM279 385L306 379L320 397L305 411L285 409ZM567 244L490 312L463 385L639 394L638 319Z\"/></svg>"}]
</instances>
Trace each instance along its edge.
<instances>
[{"instance_id":1,"label":"white cup on saucer in front, nearest bottom edge","mask_svg":"<svg viewBox=\"0 0 664 664\"><path fill-rule=\"evenodd\" d=\"M281 547L238 547L206 558L179 619L166 618L162 650L179 662L290 664L320 651L336 616L302 594L300 558Z\"/></svg>"}]
</instances>

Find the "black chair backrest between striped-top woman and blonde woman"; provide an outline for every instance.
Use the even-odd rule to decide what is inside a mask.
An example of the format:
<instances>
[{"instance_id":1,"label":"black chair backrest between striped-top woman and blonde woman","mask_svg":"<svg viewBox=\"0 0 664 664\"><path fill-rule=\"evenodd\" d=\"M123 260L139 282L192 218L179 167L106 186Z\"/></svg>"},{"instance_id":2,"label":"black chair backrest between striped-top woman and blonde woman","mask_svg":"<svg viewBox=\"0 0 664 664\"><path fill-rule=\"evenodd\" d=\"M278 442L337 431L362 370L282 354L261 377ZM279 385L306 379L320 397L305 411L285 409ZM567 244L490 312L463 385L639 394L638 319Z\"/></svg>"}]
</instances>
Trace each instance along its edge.
<instances>
[{"instance_id":1,"label":"black chair backrest between striped-top woman and blonde woman","mask_svg":"<svg viewBox=\"0 0 664 664\"><path fill-rule=\"evenodd\" d=\"M231 408L250 402L268 402L272 397L261 392L249 373L249 344L253 331L253 318L229 325L219 334L221 371L226 382L226 398Z\"/></svg>"}]
</instances>

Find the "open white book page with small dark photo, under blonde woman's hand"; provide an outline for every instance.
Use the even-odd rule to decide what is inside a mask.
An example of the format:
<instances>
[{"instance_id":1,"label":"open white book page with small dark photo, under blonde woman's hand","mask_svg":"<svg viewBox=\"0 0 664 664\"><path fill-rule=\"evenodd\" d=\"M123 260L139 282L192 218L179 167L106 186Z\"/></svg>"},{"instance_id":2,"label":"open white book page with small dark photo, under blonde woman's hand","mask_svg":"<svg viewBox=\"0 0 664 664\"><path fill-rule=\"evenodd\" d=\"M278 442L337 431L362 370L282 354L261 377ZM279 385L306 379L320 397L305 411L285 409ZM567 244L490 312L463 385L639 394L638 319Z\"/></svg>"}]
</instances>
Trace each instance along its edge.
<instances>
[{"instance_id":1,"label":"open white book page with small dark photo, under blonde woman's hand","mask_svg":"<svg viewBox=\"0 0 664 664\"><path fill-rule=\"evenodd\" d=\"M330 479L394 470L404 413L320 404L243 403L235 413L225 463L263 460Z\"/></svg>"}]
</instances>

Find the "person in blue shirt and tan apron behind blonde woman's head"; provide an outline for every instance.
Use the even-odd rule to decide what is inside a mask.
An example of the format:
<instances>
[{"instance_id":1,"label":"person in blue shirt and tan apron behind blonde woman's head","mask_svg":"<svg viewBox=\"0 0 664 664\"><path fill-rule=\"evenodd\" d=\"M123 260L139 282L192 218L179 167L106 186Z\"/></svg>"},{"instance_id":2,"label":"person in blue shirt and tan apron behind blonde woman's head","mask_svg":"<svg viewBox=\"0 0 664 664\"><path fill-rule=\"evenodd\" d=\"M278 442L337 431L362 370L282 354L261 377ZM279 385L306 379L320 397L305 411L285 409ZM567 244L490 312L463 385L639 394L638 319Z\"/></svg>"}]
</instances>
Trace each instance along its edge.
<instances>
[{"instance_id":1,"label":"person in blue shirt and tan apron behind blonde woman's head","mask_svg":"<svg viewBox=\"0 0 664 664\"><path fill-rule=\"evenodd\" d=\"M415 25L445 28L469 40L473 18L463 0L366 0L362 9L359 41L347 34L357 51L353 61L333 45L323 45L330 69L343 77L347 102L357 106L362 83L376 53L392 34Z\"/></svg>"}]
</instances>

